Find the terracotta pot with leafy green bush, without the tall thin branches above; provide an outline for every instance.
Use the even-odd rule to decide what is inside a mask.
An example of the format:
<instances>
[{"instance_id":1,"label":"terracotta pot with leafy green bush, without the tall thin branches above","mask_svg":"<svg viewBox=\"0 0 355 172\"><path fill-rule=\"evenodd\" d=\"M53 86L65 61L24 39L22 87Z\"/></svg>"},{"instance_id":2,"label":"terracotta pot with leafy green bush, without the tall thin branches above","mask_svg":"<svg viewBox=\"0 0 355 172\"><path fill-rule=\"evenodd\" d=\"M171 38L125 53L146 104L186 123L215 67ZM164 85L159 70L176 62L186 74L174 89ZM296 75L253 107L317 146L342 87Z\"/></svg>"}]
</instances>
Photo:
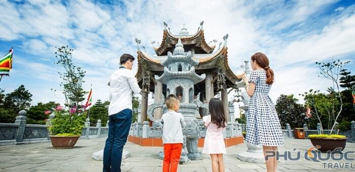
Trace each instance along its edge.
<instances>
[{"instance_id":1,"label":"terracotta pot with leafy green bush, without the tall thin branches above","mask_svg":"<svg viewBox=\"0 0 355 172\"><path fill-rule=\"evenodd\" d=\"M48 130L53 148L73 148L81 136L85 113L78 113L75 107L65 111L58 106L50 116Z\"/></svg>"}]
</instances>

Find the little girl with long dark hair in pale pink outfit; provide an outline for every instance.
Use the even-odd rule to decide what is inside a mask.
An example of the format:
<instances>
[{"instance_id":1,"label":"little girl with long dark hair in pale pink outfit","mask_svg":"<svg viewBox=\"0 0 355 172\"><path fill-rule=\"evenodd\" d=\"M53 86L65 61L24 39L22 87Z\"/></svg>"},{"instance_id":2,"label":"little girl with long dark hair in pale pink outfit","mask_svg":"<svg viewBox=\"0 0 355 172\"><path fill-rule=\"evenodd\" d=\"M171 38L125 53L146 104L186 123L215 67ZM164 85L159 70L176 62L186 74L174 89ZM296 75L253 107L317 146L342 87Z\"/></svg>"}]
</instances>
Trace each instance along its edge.
<instances>
[{"instance_id":1,"label":"little girl with long dark hair in pale pink outfit","mask_svg":"<svg viewBox=\"0 0 355 172\"><path fill-rule=\"evenodd\" d=\"M211 156L213 172L224 172L223 154L227 152L222 130L227 126L227 123L223 103L220 99L212 98L209 101L208 109L210 115L203 117L207 132L202 152Z\"/></svg>"}]
</instances>

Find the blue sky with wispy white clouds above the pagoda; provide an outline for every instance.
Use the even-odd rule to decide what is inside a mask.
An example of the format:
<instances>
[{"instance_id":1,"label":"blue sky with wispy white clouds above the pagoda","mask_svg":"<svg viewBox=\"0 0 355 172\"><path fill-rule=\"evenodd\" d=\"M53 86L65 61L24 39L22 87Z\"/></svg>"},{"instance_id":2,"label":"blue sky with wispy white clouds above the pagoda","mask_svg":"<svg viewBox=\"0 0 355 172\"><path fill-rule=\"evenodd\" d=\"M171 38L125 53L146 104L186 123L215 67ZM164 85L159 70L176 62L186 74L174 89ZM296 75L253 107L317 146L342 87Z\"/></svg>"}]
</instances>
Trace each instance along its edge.
<instances>
[{"instance_id":1,"label":"blue sky with wispy white clouds above the pagoda","mask_svg":"<svg viewBox=\"0 0 355 172\"><path fill-rule=\"evenodd\" d=\"M207 42L229 33L228 59L240 70L243 60L265 53L275 71L270 92L298 95L325 91L330 82L318 77L316 61L350 60L355 73L355 2L353 1L0 1L0 52L14 48L13 70L0 88L9 93L20 84L33 103L62 103L55 46L68 45L74 62L87 71L84 88L94 100L108 100L107 82L122 53L136 56L134 38L147 52L160 42L163 22L179 33L199 23ZM217 43L218 45L219 43ZM1 53L0 53L1 54ZM1 55L2 56L2 55ZM133 70L135 70L134 67ZM50 89L57 90L57 93ZM299 98L299 96L296 96Z\"/></svg>"}]
</instances>

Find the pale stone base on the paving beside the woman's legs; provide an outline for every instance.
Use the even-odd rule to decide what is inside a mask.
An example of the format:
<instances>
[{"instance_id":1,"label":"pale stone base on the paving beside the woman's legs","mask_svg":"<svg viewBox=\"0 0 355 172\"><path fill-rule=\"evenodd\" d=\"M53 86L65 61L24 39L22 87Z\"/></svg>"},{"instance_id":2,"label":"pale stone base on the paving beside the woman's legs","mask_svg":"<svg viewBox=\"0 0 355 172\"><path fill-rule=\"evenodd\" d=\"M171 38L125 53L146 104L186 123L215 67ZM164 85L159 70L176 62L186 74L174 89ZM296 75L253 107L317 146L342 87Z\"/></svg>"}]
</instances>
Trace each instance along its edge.
<instances>
[{"instance_id":1,"label":"pale stone base on the paving beside the woman's legs","mask_svg":"<svg viewBox=\"0 0 355 172\"><path fill-rule=\"evenodd\" d=\"M246 143L247 151L237 154L237 158L241 161L264 163L263 147L261 145L253 145Z\"/></svg>"}]
</instances>

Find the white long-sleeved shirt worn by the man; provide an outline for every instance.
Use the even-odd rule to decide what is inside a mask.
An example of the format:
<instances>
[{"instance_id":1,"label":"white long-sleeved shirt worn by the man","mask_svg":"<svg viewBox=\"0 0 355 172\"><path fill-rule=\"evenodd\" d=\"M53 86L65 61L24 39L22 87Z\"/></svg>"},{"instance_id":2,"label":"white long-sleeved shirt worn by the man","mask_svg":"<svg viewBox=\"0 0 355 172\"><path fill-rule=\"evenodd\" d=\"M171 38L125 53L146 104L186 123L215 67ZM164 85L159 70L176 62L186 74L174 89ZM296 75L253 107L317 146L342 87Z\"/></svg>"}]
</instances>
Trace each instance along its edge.
<instances>
[{"instance_id":1,"label":"white long-sleeved shirt worn by the man","mask_svg":"<svg viewBox=\"0 0 355 172\"><path fill-rule=\"evenodd\" d=\"M121 112L124 109L132 110L132 96L140 93L137 79L131 70L120 68L110 78L112 100L109 106L109 115Z\"/></svg>"}]
</instances>

